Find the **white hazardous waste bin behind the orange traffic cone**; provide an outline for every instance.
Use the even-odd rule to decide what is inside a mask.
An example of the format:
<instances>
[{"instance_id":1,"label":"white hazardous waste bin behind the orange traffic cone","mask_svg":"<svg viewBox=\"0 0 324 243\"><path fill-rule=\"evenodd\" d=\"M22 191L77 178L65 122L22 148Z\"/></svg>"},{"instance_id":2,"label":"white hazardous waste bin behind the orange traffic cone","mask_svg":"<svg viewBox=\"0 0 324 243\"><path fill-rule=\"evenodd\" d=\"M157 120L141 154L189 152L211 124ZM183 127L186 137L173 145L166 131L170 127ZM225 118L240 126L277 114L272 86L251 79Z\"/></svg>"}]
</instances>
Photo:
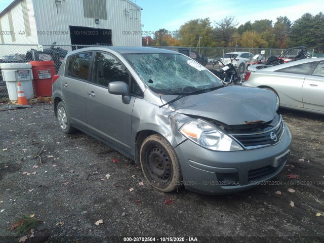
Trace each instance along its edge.
<instances>
[{"instance_id":1,"label":"white hazardous waste bin behind the orange traffic cone","mask_svg":"<svg viewBox=\"0 0 324 243\"><path fill-rule=\"evenodd\" d=\"M18 82L21 83L26 99L34 98L31 63L1 63L0 68L2 69L2 77L7 85L10 100L18 100Z\"/></svg>"}]
</instances>

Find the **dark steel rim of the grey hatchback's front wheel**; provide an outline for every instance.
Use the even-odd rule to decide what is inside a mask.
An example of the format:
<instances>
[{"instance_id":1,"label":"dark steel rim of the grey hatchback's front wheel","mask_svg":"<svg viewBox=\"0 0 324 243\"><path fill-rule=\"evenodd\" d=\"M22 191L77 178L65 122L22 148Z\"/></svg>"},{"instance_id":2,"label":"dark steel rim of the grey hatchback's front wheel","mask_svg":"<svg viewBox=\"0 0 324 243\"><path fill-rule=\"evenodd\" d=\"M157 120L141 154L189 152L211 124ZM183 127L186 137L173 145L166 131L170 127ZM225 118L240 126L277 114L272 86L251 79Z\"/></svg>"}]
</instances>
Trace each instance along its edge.
<instances>
[{"instance_id":1,"label":"dark steel rim of the grey hatchback's front wheel","mask_svg":"<svg viewBox=\"0 0 324 243\"><path fill-rule=\"evenodd\" d=\"M146 165L150 178L166 183L171 177L171 161L167 153L158 146L151 146L146 152Z\"/></svg>"}]
</instances>

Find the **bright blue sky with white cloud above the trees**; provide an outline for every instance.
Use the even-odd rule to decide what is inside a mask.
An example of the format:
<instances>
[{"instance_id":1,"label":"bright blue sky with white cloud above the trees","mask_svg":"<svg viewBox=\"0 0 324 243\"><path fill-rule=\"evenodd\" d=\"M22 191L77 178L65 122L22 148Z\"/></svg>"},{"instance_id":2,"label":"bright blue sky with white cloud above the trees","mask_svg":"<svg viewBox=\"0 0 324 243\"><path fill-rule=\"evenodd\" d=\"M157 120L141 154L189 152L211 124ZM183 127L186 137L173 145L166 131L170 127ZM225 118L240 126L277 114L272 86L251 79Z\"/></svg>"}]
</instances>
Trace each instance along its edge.
<instances>
[{"instance_id":1,"label":"bright blue sky with white cloud above the trees","mask_svg":"<svg viewBox=\"0 0 324 243\"><path fill-rule=\"evenodd\" d=\"M12 1L1 0L0 10ZM213 26L214 21L226 16L234 16L239 24L260 19L275 21L276 17L285 15L294 21L306 12L315 15L324 10L322 0L133 0L135 2L143 9L142 30L145 31L160 28L175 31L189 20L207 17Z\"/></svg>"}]
</instances>

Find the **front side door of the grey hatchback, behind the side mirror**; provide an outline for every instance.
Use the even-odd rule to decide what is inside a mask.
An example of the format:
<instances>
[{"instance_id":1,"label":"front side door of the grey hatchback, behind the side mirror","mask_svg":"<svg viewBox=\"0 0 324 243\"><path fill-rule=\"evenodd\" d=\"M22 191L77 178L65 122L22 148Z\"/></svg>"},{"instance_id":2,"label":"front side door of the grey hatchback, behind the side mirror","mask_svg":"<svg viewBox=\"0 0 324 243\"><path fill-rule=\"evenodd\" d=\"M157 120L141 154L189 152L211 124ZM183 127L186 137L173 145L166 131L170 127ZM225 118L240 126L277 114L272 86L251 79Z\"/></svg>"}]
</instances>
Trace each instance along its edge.
<instances>
[{"instance_id":1,"label":"front side door of the grey hatchback, behind the side mirror","mask_svg":"<svg viewBox=\"0 0 324 243\"><path fill-rule=\"evenodd\" d=\"M88 86L87 117L89 129L96 136L109 141L121 150L131 152L131 121L135 97L124 104L121 96L108 92L108 84L114 81L130 83L126 67L111 54L95 55L92 84Z\"/></svg>"}]
</instances>

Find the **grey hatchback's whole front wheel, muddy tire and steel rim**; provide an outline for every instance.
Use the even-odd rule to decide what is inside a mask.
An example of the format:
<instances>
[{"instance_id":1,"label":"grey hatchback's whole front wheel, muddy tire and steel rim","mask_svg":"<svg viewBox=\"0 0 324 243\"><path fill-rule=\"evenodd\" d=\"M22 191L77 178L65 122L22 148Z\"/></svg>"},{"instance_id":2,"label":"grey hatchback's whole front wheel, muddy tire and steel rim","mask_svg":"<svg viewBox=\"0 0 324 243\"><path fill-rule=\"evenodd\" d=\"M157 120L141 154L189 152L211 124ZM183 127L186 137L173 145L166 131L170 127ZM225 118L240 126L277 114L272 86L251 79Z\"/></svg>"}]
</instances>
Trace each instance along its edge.
<instances>
[{"instance_id":1,"label":"grey hatchback's whole front wheel, muddy tire and steel rim","mask_svg":"<svg viewBox=\"0 0 324 243\"><path fill-rule=\"evenodd\" d=\"M169 141L159 134L148 136L141 145L140 161L148 183L163 192L180 188L181 166Z\"/></svg>"}]
</instances>

